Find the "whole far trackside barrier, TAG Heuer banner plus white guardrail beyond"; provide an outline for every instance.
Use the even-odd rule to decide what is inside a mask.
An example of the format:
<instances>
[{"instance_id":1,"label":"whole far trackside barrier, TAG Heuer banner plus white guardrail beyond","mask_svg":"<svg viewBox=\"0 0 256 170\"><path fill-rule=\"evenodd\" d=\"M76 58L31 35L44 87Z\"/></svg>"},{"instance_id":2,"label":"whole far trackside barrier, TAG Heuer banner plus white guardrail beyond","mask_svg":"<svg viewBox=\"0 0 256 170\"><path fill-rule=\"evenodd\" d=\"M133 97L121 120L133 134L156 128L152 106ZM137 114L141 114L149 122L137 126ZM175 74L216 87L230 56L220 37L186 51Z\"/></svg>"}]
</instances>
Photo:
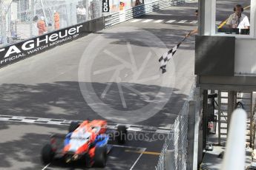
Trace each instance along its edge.
<instances>
[{"instance_id":1,"label":"whole far trackside barrier, TAG Heuer banner plus white guardrail beyond","mask_svg":"<svg viewBox=\"0 0 256 170\"><path fill-rule=\"evenodd\" d=\"M106 27L111 27L115 24L127 21L131 18L142 16L145 13L151 13L152 11L170 7L175 4L182 4L187 1L192 0L157 0L117 13L111 13L108 16L93 18L92 20L85 21L80 24L73 24L70 27L63 27L60 30L48 32L43 35L33 36L24 41L19 41L9 45L4 44L4 46L0 47L0 68L16 63L17 61L21 61L40 52L44 52L58 45L81 38L88 33L97 32ZM75 30L79 30L79 33L75 33ZM3 30L1 30L1 32L2 31ZM68 35L68 33L70 33L70 35ZM59 35L67 35L67 37Z\"/></svg>"}]
</instances>

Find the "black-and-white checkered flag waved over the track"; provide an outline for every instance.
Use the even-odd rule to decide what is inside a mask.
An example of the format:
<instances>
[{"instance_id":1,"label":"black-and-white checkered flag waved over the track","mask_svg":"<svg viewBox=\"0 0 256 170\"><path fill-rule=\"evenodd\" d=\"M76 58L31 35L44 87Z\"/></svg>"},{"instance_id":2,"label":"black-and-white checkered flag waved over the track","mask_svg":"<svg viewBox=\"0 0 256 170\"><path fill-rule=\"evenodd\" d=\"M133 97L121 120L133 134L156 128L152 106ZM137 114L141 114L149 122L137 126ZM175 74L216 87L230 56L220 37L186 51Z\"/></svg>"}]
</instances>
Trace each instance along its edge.
<instances>
[{"instance_id":1,"label":"black-and-white checkered flag waved over the track","mask_svg":"<svg viewBox=\"0 0 256 170\"><path fill-rule=\"evenodd\" d=\"M189 35L190 33L188 33ZM186 37L183 38L183 41L186 40ZM180 47L180 44L183 42L180 41L179 44L177 44L175 47L173 47L171 50L168 50L168 52L165 52L165 54L163 54L160 58L159 58L159 62L161 64L160 69L162 69L162 72L165 73L166 72L166 65L167 62L174 56L175 52L177 51L177 49Z\"/></svg>"}]
</instances>

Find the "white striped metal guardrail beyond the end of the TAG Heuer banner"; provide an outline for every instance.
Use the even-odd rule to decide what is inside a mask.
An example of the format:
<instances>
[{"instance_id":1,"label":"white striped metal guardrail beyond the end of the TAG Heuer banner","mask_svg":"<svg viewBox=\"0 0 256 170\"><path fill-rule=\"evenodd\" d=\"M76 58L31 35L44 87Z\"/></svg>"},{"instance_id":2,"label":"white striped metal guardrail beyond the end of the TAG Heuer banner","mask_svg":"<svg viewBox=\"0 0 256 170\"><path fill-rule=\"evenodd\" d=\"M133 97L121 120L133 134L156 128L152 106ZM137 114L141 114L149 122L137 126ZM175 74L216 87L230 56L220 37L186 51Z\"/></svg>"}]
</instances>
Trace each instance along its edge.
<instances>
[{"instance_id":1,"label":"white striped metal guardrail beyond the end of the TAG Heuer banner","mask_svg":"<svg viewBox=\"0 0 256 170\"><path fill-rule=\"evenodd\" d=\"M150 2L148 4L141 4L139 6L126 9L124 11L111 13L110 15L105 16L105 27L111 27L123 21L128 21L131 18L137 18L139 16L145 15L146 13L151 13L165 7L171 7L176 4L183 4L188 1L192 0L158 0Z\"/></svg>"}]
</instances>

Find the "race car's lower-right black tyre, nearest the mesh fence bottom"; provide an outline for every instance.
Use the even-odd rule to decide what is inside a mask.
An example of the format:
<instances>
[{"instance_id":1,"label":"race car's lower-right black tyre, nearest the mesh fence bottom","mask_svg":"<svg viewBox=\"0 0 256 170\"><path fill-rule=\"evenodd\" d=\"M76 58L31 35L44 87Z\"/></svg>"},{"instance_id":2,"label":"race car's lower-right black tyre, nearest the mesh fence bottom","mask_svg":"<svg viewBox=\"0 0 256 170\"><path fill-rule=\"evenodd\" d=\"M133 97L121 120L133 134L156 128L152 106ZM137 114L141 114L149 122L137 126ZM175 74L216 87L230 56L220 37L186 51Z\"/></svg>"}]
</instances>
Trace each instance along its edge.
<instances>
[{"instance_id":1,"label":"race car's lower-right black tyre, nearest the mesh fence bottom","mask_svg":"<svg viewBox=\"0 0 256 170\"><path fill-rule=\"evenodd\" d=\"M107 147L96 147L94 154L94 166L104 168L107 162Z\"/></svg>"}]
</instances>

